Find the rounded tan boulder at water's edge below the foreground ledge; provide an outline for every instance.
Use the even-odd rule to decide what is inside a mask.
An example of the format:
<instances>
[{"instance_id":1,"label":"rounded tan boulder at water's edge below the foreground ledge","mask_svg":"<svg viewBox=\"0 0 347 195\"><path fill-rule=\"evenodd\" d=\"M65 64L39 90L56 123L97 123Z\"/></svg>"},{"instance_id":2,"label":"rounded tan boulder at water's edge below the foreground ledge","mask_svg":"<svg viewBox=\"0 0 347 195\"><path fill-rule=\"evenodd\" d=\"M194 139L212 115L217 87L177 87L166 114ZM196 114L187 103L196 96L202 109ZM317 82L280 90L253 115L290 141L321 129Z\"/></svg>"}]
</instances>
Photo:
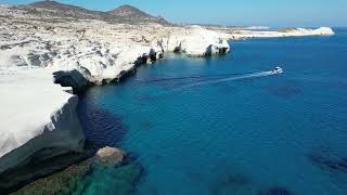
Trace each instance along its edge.
<instances>
[{"instance_id":1,"label":"rounded tan boulder at water's edge below the foreground ledge","mask_svg":"<svg viewBox=\"0 0 347 195\"><path fill-rule=\"evenodd\" d=\"M104 147L98 151L93 157L94 162L102 165L119 165L126 156L126 152L115 147Z\"/></svg>"}]
</instances>

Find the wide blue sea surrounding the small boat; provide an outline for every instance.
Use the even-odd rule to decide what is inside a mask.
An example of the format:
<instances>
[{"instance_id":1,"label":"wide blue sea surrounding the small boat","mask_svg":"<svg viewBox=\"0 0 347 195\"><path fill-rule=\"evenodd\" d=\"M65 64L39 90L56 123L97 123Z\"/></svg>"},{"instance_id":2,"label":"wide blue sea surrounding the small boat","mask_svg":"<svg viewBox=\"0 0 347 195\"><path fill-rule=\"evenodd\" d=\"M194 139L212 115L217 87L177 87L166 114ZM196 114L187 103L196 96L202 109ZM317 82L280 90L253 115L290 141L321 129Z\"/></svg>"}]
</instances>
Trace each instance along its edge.
<instances>
[{"instance_id":1,"label":"wide blue sea surrounding the small boat","mask_svg":"<svg viewBox=\"0 0 347 195\"><path fill-rule=\"evenodd\" d=\"M141 195L346 194L347 31L231 46L90 89L88 140L138 156ZM282 75L243 78L278 63Z\"/></svg>"}]
</instances>

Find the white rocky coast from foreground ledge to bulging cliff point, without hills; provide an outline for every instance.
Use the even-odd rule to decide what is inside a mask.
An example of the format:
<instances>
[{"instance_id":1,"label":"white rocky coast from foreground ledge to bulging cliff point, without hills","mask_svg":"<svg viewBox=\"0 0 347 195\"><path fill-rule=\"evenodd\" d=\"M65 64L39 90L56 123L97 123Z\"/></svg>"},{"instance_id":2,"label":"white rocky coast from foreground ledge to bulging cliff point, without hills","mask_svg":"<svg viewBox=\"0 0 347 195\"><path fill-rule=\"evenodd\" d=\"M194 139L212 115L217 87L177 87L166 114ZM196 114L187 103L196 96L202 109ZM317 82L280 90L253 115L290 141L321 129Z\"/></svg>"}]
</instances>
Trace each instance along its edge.
<instances>
[{"instance_id":1,"label":"white rocky coast from foreground ledge to bulging cliff point, without hills","mask_svg":"<svg viewBox=\"0 0 347 195\"><path fill-rule=\"evenodd\" d=\"M230 50L219 34L198 26L50 23L11 5L1 5L1 15L0 173L43 148L81 150L73 91L117 81L164 52L206 56Z\"/></svg>"}]
</instances>

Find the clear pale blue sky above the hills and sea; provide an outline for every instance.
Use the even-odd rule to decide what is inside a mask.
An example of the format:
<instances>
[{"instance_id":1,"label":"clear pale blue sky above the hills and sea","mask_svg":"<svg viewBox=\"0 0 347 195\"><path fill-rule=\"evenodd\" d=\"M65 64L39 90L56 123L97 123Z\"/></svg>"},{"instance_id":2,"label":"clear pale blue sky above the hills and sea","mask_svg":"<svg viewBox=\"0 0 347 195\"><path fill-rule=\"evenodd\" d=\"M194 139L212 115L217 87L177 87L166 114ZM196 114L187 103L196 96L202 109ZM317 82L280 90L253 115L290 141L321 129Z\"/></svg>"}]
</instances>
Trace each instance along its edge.
<instances>
[{"instance_id":1,"label":"clear pale blue sky above the hills and sea","mask_svg":"<svg viewBox=\"0 0 347 195\"><path fill-rule=\"evenodd\" d=\"M0 0L25 4L36 0ZM57 0L90 10L130 4L172 23L270 27L347 27L347 0Z\"/></svg>"}]
</instances>

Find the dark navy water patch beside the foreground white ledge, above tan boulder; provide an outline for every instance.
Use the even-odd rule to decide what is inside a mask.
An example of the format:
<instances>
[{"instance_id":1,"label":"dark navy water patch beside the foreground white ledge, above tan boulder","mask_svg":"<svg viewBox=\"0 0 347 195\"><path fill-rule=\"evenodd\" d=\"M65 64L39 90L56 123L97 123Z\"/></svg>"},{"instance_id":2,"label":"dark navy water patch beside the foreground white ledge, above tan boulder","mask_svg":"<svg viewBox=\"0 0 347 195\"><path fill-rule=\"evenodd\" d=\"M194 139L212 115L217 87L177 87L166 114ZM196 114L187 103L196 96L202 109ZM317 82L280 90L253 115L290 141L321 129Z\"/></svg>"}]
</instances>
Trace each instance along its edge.
<instances>
[{"instance_id":1,"label":"dark navy water patch beside the foreground white ledge, above tan boulder","mask_svg":"<svg viewBox=\"0 0 347 195\"><path fill-rule=\"evenodd\" d=\"M129 130L120 116L103 109L89 96L79 98L77 110L90 144L99 147L120 145Z\"/></svg>"}]
</instances>

